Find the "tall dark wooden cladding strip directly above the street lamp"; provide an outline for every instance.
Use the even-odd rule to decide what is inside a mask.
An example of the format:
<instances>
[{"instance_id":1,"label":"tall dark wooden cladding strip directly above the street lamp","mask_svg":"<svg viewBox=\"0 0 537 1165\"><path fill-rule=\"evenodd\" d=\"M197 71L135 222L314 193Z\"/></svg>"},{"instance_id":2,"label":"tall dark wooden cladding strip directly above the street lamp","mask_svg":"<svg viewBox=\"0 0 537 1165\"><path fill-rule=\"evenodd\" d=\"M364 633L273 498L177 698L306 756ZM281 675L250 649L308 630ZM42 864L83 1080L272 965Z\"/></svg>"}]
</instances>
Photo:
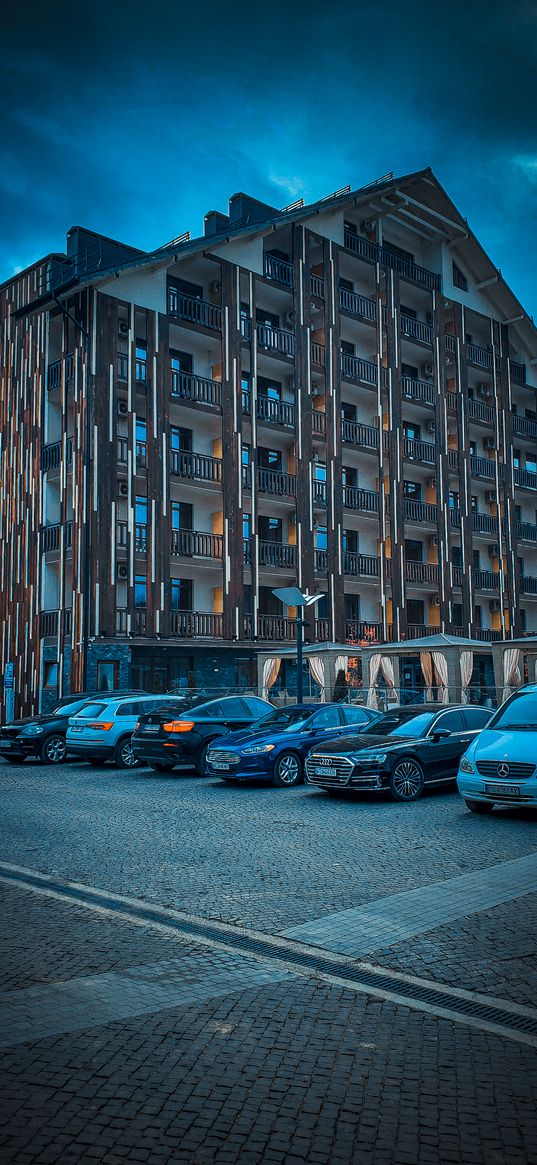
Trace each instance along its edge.
<instances>
[{"instance_id":1,"label":"tall dark wooden cladding strip directly above the street lamp","mask_svg":"<svg viewBox=\"0 0 537 1165\"><path fill-rule=\"evenodd\" d=\"M297 581L303 591L313 592L313 522L311 511L312 407L310 383L310 264L306 256L308 234L302 226L292 227L292 278L295 312L295 391L297 400L296 475L297 475ZM306 294L308 292L308 294ZM311 637L306 628L306 637Z\"/></svg>"}]
</instances>

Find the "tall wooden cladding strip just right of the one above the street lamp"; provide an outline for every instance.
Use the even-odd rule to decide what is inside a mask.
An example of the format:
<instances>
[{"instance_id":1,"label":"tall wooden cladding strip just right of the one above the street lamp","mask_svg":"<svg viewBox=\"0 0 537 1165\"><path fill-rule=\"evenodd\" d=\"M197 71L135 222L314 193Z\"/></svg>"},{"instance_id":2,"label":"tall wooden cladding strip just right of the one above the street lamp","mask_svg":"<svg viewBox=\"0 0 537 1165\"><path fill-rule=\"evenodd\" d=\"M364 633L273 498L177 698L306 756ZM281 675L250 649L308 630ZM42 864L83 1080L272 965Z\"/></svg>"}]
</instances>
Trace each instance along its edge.
<instances>
[{"instance_id":1,"label":"tall wooden cladding strip just right of the one above the street lamp","mask_svg":"<svg viewBox=\"0 0 537 1165\"><path fill-rule=\"evenodd\" d=\"M339 253L327 239L323 240L323 274L325 281L326 337L326 530L328 562L328 598L332 635L335 642L345 641L345 580L341 570L344 530L344 492L341 456L341 329L339 313Z\"/></svg>"}]
</instances>

